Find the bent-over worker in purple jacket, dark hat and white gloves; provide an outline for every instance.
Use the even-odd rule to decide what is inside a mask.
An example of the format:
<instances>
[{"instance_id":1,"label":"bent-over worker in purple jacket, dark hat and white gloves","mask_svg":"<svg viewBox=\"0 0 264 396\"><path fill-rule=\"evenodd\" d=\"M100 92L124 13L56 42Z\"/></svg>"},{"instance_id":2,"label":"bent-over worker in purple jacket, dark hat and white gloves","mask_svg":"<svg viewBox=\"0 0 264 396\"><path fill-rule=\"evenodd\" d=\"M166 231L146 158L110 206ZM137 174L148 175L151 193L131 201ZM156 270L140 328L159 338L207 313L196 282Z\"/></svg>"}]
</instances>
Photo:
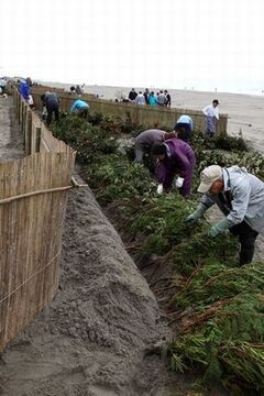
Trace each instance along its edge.
<instances>
[{"instance_id":1,"label":"bent-over worker in purple jacket, dark hat and white gloves","mask_svg":"<svg viewBox=\"0 0 264 396\"><path fill-rule=\"evenodd\" d=\"M152 154L157 158L156 178L158 182L157 194L167 190L176 174L176 188L184 197L190 195L194 167L196 163L195 153L190 145L180 139L169 139L164 143L155 143L152 146Z\"/></svg>"}]
</instances>

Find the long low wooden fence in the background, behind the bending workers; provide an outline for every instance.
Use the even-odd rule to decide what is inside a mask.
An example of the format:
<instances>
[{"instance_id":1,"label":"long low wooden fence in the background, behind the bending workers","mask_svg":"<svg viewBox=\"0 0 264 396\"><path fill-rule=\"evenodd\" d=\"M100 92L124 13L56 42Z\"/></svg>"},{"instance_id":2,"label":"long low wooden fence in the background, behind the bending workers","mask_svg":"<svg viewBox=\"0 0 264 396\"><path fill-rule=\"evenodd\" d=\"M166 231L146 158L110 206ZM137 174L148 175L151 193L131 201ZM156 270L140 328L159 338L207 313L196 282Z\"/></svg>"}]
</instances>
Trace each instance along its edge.
<instances>
[{"instance_id":1,"label":"long low wooden fence in the background, behind the bending workers","mask_svg":"<svg viewBox=\"0 0 264 396\"><path fill-rule=\"evenodd\" d=\"M35 87L32 89L34 103L37 110L42 109L41 95L47 90L46 87ZM56 91L61 98L61 110L68 111L73 102L78 96L66 94L62 89L50 88ZM110 100L96 99L92 95L82 95L81 99L88 101L89 112L101 112L102 114L111 114L120 117L122 120L131 119L132 122L144 125L146 128L167 127L173 128L176 120L182 114L188 114L194 121L195 131L205 129L205 116L201 111L178 108L163 108L152 106L136 106L132 103L120 103ZM228 114L220 114L218 122L218 133L226 134L228 130Z\"/></svg>"}]
</instances>

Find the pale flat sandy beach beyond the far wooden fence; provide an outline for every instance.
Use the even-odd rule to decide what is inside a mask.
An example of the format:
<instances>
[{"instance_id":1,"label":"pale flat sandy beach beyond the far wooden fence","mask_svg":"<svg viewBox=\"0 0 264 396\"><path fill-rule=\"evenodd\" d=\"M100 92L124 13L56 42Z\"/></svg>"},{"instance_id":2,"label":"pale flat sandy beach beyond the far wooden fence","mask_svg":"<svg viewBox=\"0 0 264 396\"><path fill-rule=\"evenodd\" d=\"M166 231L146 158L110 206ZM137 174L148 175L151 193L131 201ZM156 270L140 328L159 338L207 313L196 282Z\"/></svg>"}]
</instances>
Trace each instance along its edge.
<instances>
[{"instance_id":1,"label":"pale flat sandy beach beyond the far wooden fence","mask_svg":"<svg viewBox=\"0 0 264 396\"><path fill-rule=\"evenodd\" d=\"M54 87L69 89L70 84L46 82ZM158 91L161 88L151 88ZM142 87L135 90L144 91ZM172 96L172 107L201 110L217 98L220 101L219 112L229 114L228 133L249 140L254 150L264 152L264 96L209 92L196 90L167 89ZM103 99L114 99L119 94L128 97L130 88L109 86L86 86L86 94L99 95Z\"/></svg>"}]
</instances>

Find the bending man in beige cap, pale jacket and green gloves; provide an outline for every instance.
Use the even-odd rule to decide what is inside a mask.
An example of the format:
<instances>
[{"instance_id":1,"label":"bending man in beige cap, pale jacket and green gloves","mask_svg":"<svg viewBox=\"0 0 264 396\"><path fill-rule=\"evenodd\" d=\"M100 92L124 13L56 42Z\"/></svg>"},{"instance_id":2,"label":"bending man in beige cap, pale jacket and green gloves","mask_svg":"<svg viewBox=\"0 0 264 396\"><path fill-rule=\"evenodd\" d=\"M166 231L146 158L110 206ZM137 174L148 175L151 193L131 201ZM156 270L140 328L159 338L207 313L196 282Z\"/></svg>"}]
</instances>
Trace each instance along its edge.
<instances>
[{"instance_id":1,"label":"bending man in beige cap, pale jacket and green gloves","mask_svg":"<svg viewBox=\"0 0 264 396\"><path fill-rule=\"evenodd\" d=\"M264 183L239 166L211 165L201 172L200 178L198 191L205 195L186 222L195 223L217 204L226 218L212 226L208 235L215 238L226 230L238 235L240 265L251 263L256 237L264 231Z\"/></svg>"}]
</instances>

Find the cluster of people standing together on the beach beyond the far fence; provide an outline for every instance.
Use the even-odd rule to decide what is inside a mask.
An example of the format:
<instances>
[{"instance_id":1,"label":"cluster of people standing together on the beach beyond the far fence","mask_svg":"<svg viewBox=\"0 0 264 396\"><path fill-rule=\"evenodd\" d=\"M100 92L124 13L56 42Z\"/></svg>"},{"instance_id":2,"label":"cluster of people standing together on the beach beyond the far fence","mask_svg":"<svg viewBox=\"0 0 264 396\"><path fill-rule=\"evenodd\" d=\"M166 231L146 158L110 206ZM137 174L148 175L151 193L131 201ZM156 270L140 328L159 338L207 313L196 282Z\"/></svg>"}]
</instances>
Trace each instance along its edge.
<instances>
[{"instance_id":1,"label":"cluster of people standing together on the beach beyond the far fence","mask_svg":"<svg viewBox=\"0 0 264 396\"><path fill-rule=\"evenodd\" d=\"M145 89L145 91L142 94L142 91L139 91L139 94L135 91L134 88L131 89L129 92L129 101L135 105L148 105L148 106L166 106L170 107L172 105L172 98L168 91L165 89L160 90L158 92L154 92L148 90L148 88Z\"/></svg>"}]
</instances>

